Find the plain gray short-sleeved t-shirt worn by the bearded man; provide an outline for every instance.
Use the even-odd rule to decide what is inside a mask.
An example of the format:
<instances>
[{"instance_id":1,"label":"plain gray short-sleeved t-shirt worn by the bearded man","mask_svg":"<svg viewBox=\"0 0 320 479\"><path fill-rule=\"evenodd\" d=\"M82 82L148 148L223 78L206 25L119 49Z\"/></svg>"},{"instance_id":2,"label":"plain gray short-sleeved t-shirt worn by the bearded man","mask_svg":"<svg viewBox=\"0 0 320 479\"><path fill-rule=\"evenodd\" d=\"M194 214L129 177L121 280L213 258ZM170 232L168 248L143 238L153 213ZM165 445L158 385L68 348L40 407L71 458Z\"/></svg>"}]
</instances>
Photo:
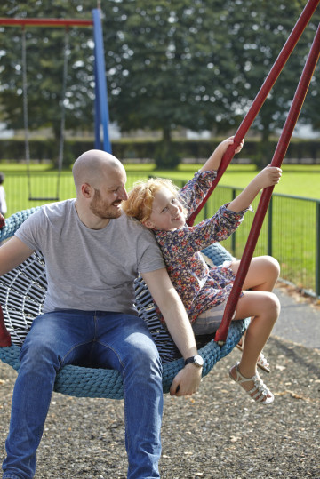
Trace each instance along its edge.
<instances>
[{"instance_id":1,"label":"plain gray short-sleeved t-shirt worn by the bearded man","mask_svg":"<svg viewBox=\"0 0 320 479\"><path fill-rule=\"evenodd\" d=\"M133 281L164 267L154 235L123 214L102 229L84 226L75 200L46 204L15 235L42 251L48 291L44 312L54 309L137 315Z\"/></svg>"}]
</instances>

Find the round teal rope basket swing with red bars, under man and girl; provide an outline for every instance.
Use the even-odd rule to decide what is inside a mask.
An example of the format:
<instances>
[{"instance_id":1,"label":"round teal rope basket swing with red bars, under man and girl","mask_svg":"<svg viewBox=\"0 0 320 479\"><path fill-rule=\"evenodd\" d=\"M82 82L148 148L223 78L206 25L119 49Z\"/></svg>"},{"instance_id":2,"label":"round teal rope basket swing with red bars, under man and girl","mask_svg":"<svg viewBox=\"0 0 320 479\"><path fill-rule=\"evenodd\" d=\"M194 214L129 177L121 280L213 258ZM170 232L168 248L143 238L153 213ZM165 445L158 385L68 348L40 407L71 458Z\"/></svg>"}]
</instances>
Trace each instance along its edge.
<instances>
[{"instance_id":1,"label":"round teal rope basket swing with red bars, under man and girl","mask_svg":"<svg viewBox=\"0 0 320 479\"><path fill-rule=\"evenodd\" d=\"M275 84L276 78L284 68L286 60L289 58L295 44L298 42L300 35L304 28L308 24L308 20L311 18L313 12L316 10L318 1L309 0L305 10L302 12L300 19L298 20L295 28L292 30L291 36L289 36L283 51L280 53L274 67L271 69L265 83L262 85L260 93L256 97L252 104L252 108L244 118L242 126L245 124L247 130L252 123L254 116L256 116L262 106L264 100L268 96L268 92ZM319 58L320 52L320 27L318 28L315 36L314 43L308 55L306 66L302 72L300 83L292 101L292 107L290 108L287 121L284 124L284 132L278 142L275 156L272 161L272 165L280 166L282 164L286 149L288 148L289 141L291 139L293 128L298 120L300 114L300 108L303 104L304 98L308 92L308 85L311 81L311 77L316 68L316 62ZM276 73L275 73L276 72ZM266 86L267 85L267 86ZM261 93L262 92L262 93ZM243 131L245 130L243 127ZM234 153L237 144L244 138L243 131L238 130L236 133L236 141L232 148L229 148L226 156ZM229 150L232 150L231 153ZM230 158L231 161L231 158ZM225 166L226 162L224 162ZM220 173L222 174L222 173ZM223 316L220 329L217 331L215 339L201 347L199 354L204 357L204 371L203 376L211 371L214 363L220 360L220 358L228 355L228 353L236 346L239 339L242 337L246 326L249 323L248 320L237 321L230 324L230 317L236 307L236 301L241 291L244 277L246 275L245 267L249 266L252 258L252 252L255 247L255 242L259 236L263 217L268 208L268 199L272 194L273 188L267 188L264 190L258 210L256 212L258 227L256 232L250 232L247 245L249 246L244 251L244 260L241 261L239 271L236 275L236 281L228 299L228 305L226 313ZM18 212L12 215L7 221L5 228L1 231L0 240L12 236L14 231L19 228L21 222L26 220L30 214L35 212L38 208ZM261 214L260 214L261 211ZM260 225L259 225L260 223ZM254 225L255 223L253 223ZM252 229L255 227L252 225ZM252 236L256 236L253 237ZM228 251L219 243L214 243L209 248L204 250L204 254L212 259L213 263L221 264L225 259L229 259L230 255ZM30 271L28 277L28 271ZM0 287L0 301L4 304L4 323L7 325L9 331L12 328L14 334L14 328L12 324L20 323L20 317L23 316L24 323L28 321L32 322L32 315L24 317L25 310L32 311L33 315L38 314L38 308L41 308L41 301L45 293L46 281L43 275L44 260L41 253L36 251L25 263L16 268L12 272L3 276L3 281ZM32 287L34 286L35 294L31 294ZM240 291L238 291L240 289ZM26 293L20 291L27 291ZM152 301L150 299L148 289L146 285L138 278L136 280L136 306L139 314L148 322L150 317L154 315L152 309ZM12 313L12 320L10 314ZM229 317L228 317L228 313ZM4 363L9 363L16 370L19 369L19 350L20 347L16 344L12 344L10 334L6 331L5 324L2 323L0 329L0 358ZM158 326L157 326L158 327ZM151 330L150 330L151 331ZM26 332L26 331L25 331ZM158 334L159 331L156 331ZM161 331L160 331L161 332ZM152 333L152 331L151 331ZM12 334L12 337L13 337ZM155 339L156 340L156 339ZM219 344L218 344L219 342ZM160 352L161 354L161 352ZM168 392L172 379L178 371L183 367L183 359L173 359L168 363L164 363L164 376L163 387L164 393ZM84 397L109 397L113 399L123 398L122 379L117 371L83 368L79 366L66 366L58 374L54 390L62 394L76 395Z\"/></svg>"}]
</instances>

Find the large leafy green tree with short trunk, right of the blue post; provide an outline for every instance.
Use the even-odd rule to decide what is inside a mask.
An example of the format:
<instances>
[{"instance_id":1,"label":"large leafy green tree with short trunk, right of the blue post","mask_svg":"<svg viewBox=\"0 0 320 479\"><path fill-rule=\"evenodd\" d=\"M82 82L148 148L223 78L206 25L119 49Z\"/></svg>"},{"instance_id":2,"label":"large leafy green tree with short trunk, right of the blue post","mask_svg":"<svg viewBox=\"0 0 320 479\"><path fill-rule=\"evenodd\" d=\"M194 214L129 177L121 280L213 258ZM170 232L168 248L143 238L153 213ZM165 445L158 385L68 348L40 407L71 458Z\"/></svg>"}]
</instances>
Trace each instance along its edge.
<instances>
[{"instance_id":1,"label":"large leafy green tree with short trunk, right of the blue post","mask_svg":"<svg viewBox=\"0 0 320 479\"><path fill-rule=\"evenodd\" d=\"M225 27L216 12L227 15L224 4L217 0L103 4L110 116L124 131L163 132L156 157L159 166L179 163L172 145L176 127L221 130L236 123L222 88L224 84L228 89L237 75L232 52L221 43Z\"/></svg>"}]
</instances>

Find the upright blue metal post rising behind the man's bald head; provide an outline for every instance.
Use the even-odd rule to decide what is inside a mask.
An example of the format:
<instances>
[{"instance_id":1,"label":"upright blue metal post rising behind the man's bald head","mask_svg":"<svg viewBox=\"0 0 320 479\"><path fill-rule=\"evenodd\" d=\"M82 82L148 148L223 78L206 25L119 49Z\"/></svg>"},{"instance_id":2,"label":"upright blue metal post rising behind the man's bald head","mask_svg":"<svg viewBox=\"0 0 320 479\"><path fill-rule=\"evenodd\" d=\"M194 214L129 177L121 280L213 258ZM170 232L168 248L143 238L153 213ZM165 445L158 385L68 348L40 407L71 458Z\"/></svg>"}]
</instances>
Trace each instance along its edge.
<instances>
[{"instance_id":1,"label":"upright blue metal post rising behind the man's bald head","mask_svg":"<svg viewBox=\"0 0 320 479\"><path fill-rule=\"evenodd\" d=\"M103 36L100 19L100 10L92 10L93 37L94 37L94 76L95 76L95 100L94 100L94 146L112 153L108 134L108 92L106 68L104 60ZM102 137L102 141L101 141Z\"/></svg>"}]
</instances>

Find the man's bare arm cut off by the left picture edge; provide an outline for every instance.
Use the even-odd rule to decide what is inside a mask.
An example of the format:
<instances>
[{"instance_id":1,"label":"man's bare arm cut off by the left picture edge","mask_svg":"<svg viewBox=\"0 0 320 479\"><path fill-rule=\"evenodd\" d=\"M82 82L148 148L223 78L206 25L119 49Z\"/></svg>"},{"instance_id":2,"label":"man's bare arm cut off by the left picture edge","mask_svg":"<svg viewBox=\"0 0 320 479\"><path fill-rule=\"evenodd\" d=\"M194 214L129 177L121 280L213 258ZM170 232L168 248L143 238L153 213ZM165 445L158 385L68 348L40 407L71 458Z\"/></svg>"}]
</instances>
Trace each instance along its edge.
<instances>
[{"instance_id":1,"label":"man's bare arm cut off by the left picture edge","mask_svg":"<svg viewBox=\"0 0 320 479\"><path fill-rule=\"evenodd\" d=\"M0 276L19 266L33 252L27 244L13 236L0 248Z\"/></svg>"}]
</instances>

